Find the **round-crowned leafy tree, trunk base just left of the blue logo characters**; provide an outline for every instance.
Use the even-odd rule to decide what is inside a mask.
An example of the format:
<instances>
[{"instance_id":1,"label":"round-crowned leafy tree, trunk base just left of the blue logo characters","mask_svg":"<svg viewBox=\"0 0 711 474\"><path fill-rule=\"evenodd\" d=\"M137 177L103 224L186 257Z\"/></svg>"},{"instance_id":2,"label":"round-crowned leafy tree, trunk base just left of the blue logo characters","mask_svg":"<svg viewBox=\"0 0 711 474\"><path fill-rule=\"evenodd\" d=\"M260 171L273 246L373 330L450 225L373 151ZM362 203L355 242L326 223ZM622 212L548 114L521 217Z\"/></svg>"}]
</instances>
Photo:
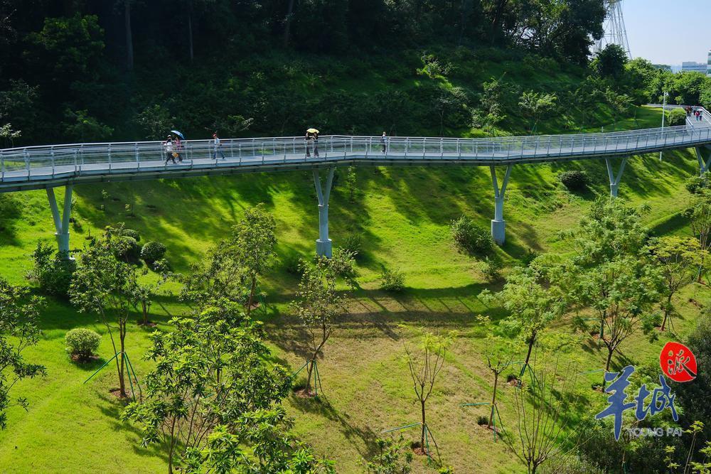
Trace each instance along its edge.
<instances>
[{"instance_id":1,"label":"round-crowned leafy tree, trunk base just left of the blue logo characters","mask_svg":"<svg viewBox=\"0 0 711 474\"><path fill-rule=\"evenodd\" d=\"M609 372L612 355L627 338L640 326L645 333L653 329L651 308L658 301L661 274L654 266L626 257L584 271L577 279L576 296L604 324L600 340L607 348L605 371Z\"/></svg>"}]
</instances>

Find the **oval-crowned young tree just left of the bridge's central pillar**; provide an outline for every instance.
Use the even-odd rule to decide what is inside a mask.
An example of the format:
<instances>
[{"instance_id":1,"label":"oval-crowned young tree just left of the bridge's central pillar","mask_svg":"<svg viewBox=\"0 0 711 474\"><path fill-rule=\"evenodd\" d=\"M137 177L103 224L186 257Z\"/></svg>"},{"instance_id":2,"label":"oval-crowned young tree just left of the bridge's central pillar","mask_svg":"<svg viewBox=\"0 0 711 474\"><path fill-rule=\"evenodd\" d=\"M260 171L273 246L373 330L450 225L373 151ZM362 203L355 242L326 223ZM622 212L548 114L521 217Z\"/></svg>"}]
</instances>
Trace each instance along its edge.
<instances>
[{"instance_id":1,"label":"oval-crowned young tree just left of the bridge's central pillar","mask_svg":"<svg viewBox=\"0 0 711 474\"><path fill-rule=\"evenodd\" d=\"M257 280L274 263L274 245L277 244L274 216L264 210L264 204L245 210L245 217L232 228L228 252L235 252L247 279L250 296L247 300L247 316L257 289Z\"/></svg>"}]
</instances>

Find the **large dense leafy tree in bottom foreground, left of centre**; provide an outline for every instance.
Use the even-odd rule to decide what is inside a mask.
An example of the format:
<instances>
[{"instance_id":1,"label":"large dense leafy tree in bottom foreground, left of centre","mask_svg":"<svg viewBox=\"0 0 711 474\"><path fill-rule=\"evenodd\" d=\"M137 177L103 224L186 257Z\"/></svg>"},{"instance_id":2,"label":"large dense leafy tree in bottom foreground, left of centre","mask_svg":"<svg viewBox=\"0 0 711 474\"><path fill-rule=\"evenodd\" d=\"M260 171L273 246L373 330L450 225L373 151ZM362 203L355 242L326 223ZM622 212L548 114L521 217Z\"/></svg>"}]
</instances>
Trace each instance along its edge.
<instances>
[{"instance_id":1,"label":"large dense leafy tree in bottom foreground, left of centre","mask_svg":"<svg viewBox=\"0 0 711 474\"><path fill-rule=\"evenodd\" d=\"M168 451L168 472L284 472L298 451L281 406L292 379L269 362L260 324L232 305L173 318L155 331L146 401L127 406L141 443ZM306 472L306 471L304 471Z\"/></svg>"}]
</instances>

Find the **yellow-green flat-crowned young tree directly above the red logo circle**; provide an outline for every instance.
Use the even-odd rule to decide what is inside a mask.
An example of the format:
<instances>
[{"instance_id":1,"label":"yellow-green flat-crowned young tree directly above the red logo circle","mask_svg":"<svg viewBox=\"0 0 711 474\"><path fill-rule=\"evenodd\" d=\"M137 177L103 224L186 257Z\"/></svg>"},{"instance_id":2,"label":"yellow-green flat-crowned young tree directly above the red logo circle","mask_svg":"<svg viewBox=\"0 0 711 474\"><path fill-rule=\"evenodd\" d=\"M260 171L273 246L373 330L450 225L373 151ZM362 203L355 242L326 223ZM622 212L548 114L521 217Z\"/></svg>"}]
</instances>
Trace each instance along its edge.
<instances>
[{"instance_id":1,"label":"yellow-green flat-crowned young tree directly above the red logo circle","mask_svg":"<svg viewBox=\"0 0 711 474\"><path fill-rule=\"evenodd\" d=\"M667 321L672 325L671 317L675 313L671 302L673 296L681 287L695 280L698 269L708 259L708 252L701 248L697 239L672 235L654 239L646 247L646 254L658 267L664 281L661 300L661 330L664 330Z\"/></svg>"}]
</instances>

